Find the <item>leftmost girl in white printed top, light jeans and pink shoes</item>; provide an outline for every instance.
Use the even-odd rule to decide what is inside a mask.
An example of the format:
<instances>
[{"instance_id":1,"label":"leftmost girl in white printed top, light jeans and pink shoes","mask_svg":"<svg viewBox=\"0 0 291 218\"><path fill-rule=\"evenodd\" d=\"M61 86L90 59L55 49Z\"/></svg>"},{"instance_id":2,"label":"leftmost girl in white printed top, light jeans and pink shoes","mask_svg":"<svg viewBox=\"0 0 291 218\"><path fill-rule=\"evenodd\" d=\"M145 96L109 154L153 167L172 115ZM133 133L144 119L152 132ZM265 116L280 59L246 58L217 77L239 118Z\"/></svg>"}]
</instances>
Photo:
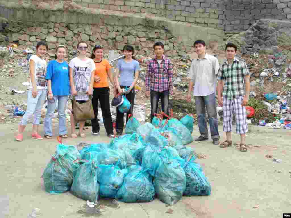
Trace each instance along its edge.
<instances>
[{"instance_id":1,"label":"leftmost girl in white printed top, light jeans and pink shoes","mask_svg":"<svg viewBox=\"0 0 291 218\"><path fill-rule=\"evenodd\" d=\"M47 62L44 60L47 48L45 41L38 42L36 45L36 55L32 55L29 59L30 86L27 94L27 110L18 126L17 141L22 141L22 133L33 114L34 120L32 123L31 138L43 139L38 134L38 125L40 122L41 108L47 96L47 81L45 79Z\"/></svg>"}]
</instances>

